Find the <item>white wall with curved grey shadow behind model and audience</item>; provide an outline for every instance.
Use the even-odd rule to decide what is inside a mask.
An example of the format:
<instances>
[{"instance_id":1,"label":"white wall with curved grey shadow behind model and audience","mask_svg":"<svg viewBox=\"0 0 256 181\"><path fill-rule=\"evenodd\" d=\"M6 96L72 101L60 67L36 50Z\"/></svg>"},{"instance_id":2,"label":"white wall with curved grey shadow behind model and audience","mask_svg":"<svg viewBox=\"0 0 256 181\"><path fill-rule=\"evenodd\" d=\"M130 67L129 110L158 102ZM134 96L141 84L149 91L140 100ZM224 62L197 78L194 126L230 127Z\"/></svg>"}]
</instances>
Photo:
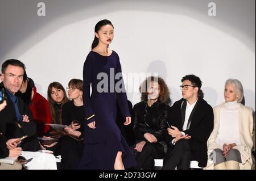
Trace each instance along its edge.
<instances>
[{"instance_id":1,"label":"white wall with curved grey shadow behind model and audience","mask_svg":"<svg viewBox=\"0 0 256 181\"><path fill-rule=\"evenodd\" d=\"M46 4L46 16L37 15L38 2ZM216 3L217 16L208 16L209 2ZM110 48L119 54L133 104L140 101L141 82L128 81L128 74L156 72L166 80L173 102L181 98L180 79L199 76L211 106L224 100L226 79L240 79L246 106L255 110L254 0L1 0L0 62L23 61L47 97L49 83L67 87L71 78L82 79L101 19L114 25Z\"/></svg>"}]
</instances>

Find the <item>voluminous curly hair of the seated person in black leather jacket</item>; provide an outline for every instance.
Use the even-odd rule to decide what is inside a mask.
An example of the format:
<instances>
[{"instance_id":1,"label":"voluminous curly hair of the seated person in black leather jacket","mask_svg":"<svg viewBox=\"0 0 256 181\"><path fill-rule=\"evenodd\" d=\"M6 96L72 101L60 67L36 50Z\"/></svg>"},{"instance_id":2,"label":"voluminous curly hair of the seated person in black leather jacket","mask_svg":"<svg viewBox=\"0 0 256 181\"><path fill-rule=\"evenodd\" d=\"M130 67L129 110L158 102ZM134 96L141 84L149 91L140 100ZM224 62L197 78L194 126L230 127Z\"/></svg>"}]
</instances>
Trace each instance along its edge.
<instances>
[{"instance_id":1,"label":"voluminous curly hair of the seated person in black leather jacket","mask_svg":"<svg viewBox=\"0 0 256 181\"><path fill-rule=\"evenodd\" d=\"M139 91L141 92L141 100L147 101L147 88L150 87L151 82L158 82L158 85L160 87L160 95L158 100L161 103L166 103L171 105L171 99L170 99L170 91L168 89L168 86L166 85L166 82L161 77L147 77L146 80L144 80L139 86Z\"/></svg>"}]
</instances>

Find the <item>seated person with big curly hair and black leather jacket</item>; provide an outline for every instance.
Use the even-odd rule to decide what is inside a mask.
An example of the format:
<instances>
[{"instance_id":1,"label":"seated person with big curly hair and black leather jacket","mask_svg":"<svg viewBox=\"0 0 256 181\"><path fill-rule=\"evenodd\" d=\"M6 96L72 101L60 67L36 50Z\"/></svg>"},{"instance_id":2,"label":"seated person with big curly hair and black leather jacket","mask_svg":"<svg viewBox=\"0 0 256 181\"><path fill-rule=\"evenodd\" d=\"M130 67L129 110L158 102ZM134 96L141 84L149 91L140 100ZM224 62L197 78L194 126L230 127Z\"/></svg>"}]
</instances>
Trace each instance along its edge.
<instances>
[{"instance_id":1,"label":"seated person with big curly hair and black leather jacket","mask_svg":"<svg viewBox=\"0 0 256 181\"><path fill-rule=\"evenodd\" d=\"M167 152L167 128L170 92L160 77L148 77L139 87L141 100L134 105L133 129L137 144L135 169L154 169L154 159Z\"/></svg>"}]
</instances>

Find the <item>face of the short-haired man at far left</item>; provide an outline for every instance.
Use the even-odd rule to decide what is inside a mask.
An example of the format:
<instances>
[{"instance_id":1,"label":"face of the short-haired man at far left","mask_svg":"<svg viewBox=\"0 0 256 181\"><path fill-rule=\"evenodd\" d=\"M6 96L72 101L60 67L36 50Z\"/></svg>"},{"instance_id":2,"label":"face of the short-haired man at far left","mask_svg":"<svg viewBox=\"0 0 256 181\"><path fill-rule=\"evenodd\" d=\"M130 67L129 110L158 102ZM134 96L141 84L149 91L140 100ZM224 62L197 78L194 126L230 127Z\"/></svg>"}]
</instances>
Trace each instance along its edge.
<instances>
[{"instance_id":1,"label":"face of the short-haired man at far left","mask_svg":"<svg viewBox=\"0 0 256 181\"><path fill-rule=\"evenodd\" d=\"M11 94L15 94L20 89L23 81L23 68L19 66L8 65L5 73L1 74L3 85Z\"/></svg>"}]
</instances>

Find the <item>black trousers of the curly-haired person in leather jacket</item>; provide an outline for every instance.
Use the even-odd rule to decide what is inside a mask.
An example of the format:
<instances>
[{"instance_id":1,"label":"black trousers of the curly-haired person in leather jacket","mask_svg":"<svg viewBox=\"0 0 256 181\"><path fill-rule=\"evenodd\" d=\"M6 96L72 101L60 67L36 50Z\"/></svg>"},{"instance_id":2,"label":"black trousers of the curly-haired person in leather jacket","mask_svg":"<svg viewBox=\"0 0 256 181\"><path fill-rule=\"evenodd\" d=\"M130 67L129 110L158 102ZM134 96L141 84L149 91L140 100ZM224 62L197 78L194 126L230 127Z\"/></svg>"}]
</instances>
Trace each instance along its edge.
<instances>
[{"instance_id":1,"label":"black trousers of the curly-haired person in leather jacket","mask_svg":"<svg viewBox=\"0 0 256 181\"><path fill-rule=\"evenodd\" d=\"M159 143L147 142L141 152L138 152L135 159L137 161L137 170L154 170L155 158L164 158L163 146Z\"/></svg>"}]
</instances>

